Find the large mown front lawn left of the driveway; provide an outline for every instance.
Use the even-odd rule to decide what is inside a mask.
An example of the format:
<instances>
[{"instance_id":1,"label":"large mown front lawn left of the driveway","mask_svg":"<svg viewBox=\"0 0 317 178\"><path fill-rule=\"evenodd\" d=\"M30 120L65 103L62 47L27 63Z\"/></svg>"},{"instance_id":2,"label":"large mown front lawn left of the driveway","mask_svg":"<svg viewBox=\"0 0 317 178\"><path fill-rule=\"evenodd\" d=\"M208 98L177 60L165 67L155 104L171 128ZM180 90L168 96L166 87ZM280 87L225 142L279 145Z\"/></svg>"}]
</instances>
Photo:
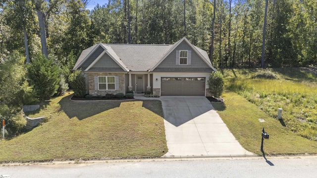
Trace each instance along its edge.
<instances>
[{"instance_id":1,"label":"large mown front lawn left of the driveway","mask_svg":"<svg viewBox=\"0 0 317 178\"><path fill-rule=\"evenodd\" d=\"M0 162L53 159L149 158L167 152L158 100L69 101L57 97L30 117L48 122L0 141Z\"/></svg>"}]
</instances>

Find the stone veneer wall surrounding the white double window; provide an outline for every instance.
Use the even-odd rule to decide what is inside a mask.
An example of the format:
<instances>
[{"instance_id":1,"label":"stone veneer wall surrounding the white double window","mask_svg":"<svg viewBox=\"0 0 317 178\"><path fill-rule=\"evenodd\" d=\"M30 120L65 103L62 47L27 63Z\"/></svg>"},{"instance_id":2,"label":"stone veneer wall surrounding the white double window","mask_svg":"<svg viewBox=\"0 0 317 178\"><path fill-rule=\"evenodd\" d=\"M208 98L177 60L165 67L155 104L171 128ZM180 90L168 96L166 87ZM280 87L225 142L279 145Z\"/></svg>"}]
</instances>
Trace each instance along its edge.
<instances>
[{"instance_id":1,"label":"stone veneer wall surrounding the white double window","mask_svg":"<svg viewBox=\"0 0 317 178\"><path fill-rule=\"evenodd\" d=\"M95 90L95 76L118 76L119 77L119 90ZM96 72L96 73L88 73L88 80L89 80L89 94L92 95L105 95L106 93L109 94L116 94L116 93L125 93L125 78L124 73L104 73L104 72Z\"/></svg>"}]
</instances>

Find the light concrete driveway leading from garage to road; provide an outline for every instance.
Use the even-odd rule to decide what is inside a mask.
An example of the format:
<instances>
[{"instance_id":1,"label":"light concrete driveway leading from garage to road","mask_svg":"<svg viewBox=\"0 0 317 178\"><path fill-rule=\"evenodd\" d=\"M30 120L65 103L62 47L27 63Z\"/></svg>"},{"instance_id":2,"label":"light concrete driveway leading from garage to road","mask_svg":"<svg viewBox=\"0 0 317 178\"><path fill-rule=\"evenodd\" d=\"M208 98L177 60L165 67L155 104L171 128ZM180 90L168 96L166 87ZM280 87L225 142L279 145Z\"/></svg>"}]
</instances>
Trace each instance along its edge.
<instances>
[{"instance_id":1,"label":"light concrete driveway leading from garage to road","mask_svg":"<svg viewBox=\"0 0 317 178\"><path fill-rule=\"evenodd\" d=\"M254 155L242 148L206 97L161 96L160 100L168 147L165 157Z\"/></svg>"}]
</instances>

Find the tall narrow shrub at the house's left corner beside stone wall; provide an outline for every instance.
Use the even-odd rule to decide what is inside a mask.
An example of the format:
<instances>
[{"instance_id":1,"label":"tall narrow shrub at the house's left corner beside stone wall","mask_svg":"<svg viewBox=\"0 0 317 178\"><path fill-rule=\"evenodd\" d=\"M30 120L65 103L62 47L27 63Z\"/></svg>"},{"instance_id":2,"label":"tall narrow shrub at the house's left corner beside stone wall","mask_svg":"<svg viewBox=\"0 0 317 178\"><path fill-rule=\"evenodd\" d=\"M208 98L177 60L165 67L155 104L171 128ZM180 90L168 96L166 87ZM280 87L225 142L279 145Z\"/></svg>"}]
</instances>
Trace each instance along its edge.
<instances>
[{"instance_id":1,"label":"tall narrow shrub at the house's left corner beside stone wall","mask_svg":"<svg viewBox=\"0 0 317 178\"><path fill-rule=\"evenodd\" d=\"M74 90L76 97L84 97L86 94L85 77L81 74L81 70L76 70L69 75L70 87Z\"/></svg>"}]
</instances>

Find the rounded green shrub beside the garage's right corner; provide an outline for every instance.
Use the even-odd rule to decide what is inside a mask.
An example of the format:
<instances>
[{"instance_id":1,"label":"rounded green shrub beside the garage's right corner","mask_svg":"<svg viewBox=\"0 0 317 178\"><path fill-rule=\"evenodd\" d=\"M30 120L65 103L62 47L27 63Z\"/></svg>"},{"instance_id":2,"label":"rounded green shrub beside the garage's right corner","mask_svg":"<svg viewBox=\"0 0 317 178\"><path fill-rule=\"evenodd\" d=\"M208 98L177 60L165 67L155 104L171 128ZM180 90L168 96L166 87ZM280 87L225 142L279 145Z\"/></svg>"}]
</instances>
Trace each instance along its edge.
<instances>
[{"instance_id":1,"label":"rounded green shrub beside the garage's right corner","mask_svg":"<svg viewBox=\"0 0 317 178\"><path fill-rule=\"evenodd\" d=\"M224 80L222 74L218 71L212 72L208 80L208 85L211 95L213 97L220 97L224 88Z\"/></svg>"}]
</instances>

